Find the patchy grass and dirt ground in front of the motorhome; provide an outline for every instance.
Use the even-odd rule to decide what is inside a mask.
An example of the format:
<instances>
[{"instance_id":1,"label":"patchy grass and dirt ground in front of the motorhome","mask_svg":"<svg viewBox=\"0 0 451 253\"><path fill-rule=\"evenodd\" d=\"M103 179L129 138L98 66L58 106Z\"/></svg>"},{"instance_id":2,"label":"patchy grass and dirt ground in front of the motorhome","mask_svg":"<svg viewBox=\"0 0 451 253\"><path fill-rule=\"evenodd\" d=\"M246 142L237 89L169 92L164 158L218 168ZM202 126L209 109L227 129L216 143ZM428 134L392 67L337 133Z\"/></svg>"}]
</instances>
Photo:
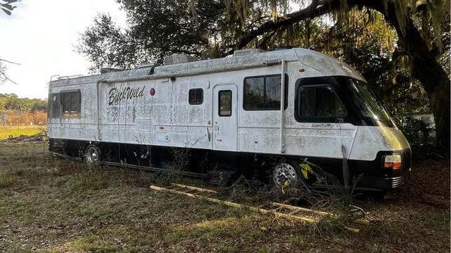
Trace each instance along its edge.
<instances>
[{"instance_id":1,"label":"patchy grass and dirt ground in front of the motorhome","mask_svg":"<svg viewBox=\"0 0 451 253\"><path fill-rule=\"evenodd\" d=\"M450 161L414 164L400 192L357 200L360 233L155 192L202 182L0 143L0 252L450 252ZM208 186L206 186L208 187Z\"/></svg>"}]
</instances>

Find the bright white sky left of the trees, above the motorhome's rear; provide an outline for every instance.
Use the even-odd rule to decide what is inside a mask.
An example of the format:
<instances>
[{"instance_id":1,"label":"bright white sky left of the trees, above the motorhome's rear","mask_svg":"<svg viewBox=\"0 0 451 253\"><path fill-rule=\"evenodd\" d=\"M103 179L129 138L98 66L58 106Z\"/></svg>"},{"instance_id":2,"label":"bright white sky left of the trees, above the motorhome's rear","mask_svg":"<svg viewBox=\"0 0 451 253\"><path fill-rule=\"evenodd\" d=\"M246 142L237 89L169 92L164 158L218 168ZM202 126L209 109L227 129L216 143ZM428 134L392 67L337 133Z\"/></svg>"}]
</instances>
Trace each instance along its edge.
<instances>
[{"instance_id":1,"label":"bright white sky left of the trees, above the motorhome's rear","mask_svg":"<svg viewBox=\"0 0 451 253\"><path fill-rule=\"evenodd\" d=\"M97 13L109 13L119 26L127 25L115 0L22 0L13 14L0 11L0 59L16 84L0 84L0 93L20 98L47 98L52 75L87 75L90 62L75 52L80 33Z\"/></svg>"}]
</instances>

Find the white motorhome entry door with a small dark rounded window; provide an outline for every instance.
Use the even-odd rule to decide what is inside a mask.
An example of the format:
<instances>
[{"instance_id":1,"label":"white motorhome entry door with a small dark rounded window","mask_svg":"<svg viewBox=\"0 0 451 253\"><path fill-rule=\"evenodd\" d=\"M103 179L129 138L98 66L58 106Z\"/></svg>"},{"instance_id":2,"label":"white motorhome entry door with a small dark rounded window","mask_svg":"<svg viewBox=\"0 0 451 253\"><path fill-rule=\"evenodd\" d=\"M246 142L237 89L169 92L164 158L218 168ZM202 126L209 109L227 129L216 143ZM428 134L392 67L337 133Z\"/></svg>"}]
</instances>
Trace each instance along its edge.
<instances>
[{"instance_id":1,"label":"white motorhome entry door with a small dark rounded window","mask_svg":"<svg viewBox=\"0 0 451 253\"><path fill-rule=\"evenodd\" d=\"M235 84L213 88L213 150L237 151L237 90Z\"/></svg>"}]
</instances>

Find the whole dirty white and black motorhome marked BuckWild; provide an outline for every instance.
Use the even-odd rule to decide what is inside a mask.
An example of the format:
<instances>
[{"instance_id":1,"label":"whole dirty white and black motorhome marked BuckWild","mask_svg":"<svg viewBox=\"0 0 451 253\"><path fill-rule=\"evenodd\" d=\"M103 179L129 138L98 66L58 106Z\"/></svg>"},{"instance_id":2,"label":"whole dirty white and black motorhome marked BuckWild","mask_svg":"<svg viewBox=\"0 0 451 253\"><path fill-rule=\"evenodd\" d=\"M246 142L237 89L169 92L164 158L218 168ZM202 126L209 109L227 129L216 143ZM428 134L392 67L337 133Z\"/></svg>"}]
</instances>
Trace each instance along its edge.
<instances>
[{"instance_id":1,"label":"whole dirty white and black motorhome marked BuckWild","mask_svg":"<svg viewBox=\"0 0 451 253\"><path fill-rule=\"evenodd\" d=\"M238 50L196 61L62 77L49 85L50 151L87 162L161 168L189 148L187 174L234 168L301 180L299 163L341 178L348 161L358 187L399 187L410 146L365 79L308 49ZM206 160L207 167L199 161Z\"/></svg>"}]
</instances>

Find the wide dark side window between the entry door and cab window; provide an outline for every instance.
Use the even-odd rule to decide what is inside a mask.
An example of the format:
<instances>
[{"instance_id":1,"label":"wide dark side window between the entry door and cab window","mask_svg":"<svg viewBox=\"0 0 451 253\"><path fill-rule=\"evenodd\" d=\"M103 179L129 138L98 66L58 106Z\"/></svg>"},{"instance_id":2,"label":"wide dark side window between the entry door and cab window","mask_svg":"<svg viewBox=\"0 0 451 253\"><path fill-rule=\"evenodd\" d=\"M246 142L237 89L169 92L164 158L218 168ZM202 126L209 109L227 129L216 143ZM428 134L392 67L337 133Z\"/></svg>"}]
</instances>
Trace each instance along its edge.
<instances>
[{"instance_id":1,"label":"wide dark side window between the entry door and cab window","mask_svg":"<svg viewBox=\"0 0 451 253\"><path fill-rule=\"evenodd\" d=\"M243 109L246 111L280 110L280 75L246 77L244 79ZM288 103L288 75L285 75L285 103Z\"/></svg>"}]
</instances>

